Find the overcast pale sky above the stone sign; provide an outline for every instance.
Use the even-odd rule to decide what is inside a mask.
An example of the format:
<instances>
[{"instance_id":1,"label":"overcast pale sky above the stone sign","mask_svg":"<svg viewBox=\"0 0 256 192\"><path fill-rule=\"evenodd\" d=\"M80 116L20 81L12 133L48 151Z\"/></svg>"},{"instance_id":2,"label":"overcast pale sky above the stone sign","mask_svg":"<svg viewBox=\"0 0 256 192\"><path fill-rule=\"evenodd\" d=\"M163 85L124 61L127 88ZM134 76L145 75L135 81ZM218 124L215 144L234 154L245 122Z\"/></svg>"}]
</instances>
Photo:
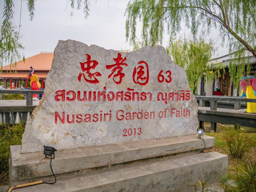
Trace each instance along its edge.
<instances>
[{"instance_id":1,"label":"overcast pale sky above the stone sign","mask_svg":"<svg viewBox=\"0 0 256 192\"><path fill-rule=\"evenodd\" d=\"M88 19L84 19L82 10L75 10L73 17L70 17L70 0L68 5L66 0L37 0L32 21L29 20L26 2L22 1L20 27L20 41L25 47L25 58L40 51L54 51L58 40L67 39L87 45L96 44L105 49L132 50L132 46L125 40L124 12L129 0L97 0L96 3L92 0ZM13 22L17 27L20 21L20 3L21 0L14 0ZM2 8L3 5L1 0ZM140 24L138 27L137 36L140 37ZM216 30L212 34L211 38L218 38ZM163 42L163 46L166 45L167 35ZM217 43L216 47L219 45ZM215 57L224 54L228 54L228 49L220 47Z\"/></svg>"}]
</instances>

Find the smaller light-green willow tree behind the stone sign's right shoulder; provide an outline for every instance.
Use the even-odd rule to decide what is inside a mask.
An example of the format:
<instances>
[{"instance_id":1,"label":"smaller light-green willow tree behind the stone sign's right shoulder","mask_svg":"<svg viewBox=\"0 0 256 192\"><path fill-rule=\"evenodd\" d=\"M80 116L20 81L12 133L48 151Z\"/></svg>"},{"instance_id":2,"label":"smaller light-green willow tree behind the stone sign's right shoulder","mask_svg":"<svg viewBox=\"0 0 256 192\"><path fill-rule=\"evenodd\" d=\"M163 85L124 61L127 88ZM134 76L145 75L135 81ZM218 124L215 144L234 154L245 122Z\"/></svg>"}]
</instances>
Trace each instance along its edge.
<instances>
[{"instance_id":1,"label":"smaller light-green willow tree behind the stone sign's right shoulder","mask_svg":"<svg viewBox=\"0 0 256 192\"><path fill-rule=\"evenodd\" d=\"M196 41L172 41L170 49L167 53L172 55L173 61L184 68L188 78L188 84L193 94L196 93L198 81L206 75L207 81L213 81L220 76L220 70L224 70L224 66L213 65L208 66L208 62L212 57L213 42L205 42L203 38L196 39ZM225 70L224 70L225 71Z\"/></svg>"}]
</instances>

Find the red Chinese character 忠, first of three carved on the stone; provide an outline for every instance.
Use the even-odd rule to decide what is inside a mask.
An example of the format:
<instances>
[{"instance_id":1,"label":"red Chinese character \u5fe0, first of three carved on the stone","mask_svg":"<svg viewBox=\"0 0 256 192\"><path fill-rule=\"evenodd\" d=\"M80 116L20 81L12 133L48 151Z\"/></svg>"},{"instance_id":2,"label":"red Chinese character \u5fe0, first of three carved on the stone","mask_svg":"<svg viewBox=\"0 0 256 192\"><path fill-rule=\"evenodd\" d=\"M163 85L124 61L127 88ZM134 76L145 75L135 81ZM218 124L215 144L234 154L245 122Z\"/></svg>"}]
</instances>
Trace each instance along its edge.
<instances>
[{"instance_id":1,"label":"red Chinese character \u5fe0, first of three carved on the stone","mask_svg":"<svg viewBox=\"0 0 256 192\"><path fill-rule=\"evenodd\" d=\"M87 83L93 83L93 84L99 83L99 80L96 77L100 77L101 76L100 72L90 73L90 70L91 69L95 69L95 67L99 64L98 61L95 61L95 60L91 61L91 56L88 55L88 54L86 54L86 59L87 59L86 62L84 62L84 63L79 62L79 63L81 65L82 71L87 73L87 77L89 77L89 79L87 79L87 77L85 77L84 73L80 72L79 75L78 75L78 81L81 82L81 77L83 75L84 80Z\"/></svg>"}]
</instances>

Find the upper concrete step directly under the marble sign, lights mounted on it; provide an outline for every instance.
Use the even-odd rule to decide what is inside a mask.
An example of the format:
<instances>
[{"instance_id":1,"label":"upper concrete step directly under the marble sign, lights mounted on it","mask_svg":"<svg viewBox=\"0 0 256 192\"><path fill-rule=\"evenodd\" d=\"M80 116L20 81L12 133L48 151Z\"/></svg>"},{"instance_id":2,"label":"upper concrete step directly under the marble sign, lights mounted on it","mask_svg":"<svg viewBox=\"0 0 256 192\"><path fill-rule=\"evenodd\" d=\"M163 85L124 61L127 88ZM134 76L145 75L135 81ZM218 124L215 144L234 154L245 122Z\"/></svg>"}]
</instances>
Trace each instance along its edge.
<instances>
[{"instance_id":1,"label":"upper concrete step directly under the marble sign, lights mounted on it","mask_svg":"<svg viewBox=\"0 0 256 192\"><path fill-rule=\"evenodd\" d=\"M215 138L205 135L205 147L214 147ZM11 146L9 185L19 185L36 180L50 182L52 172L49 159L42 152L20 154L21 145ZM109 144L101 146L80 147L76 149L58 150L52 160L52 167L57 179L78 176L93 172L105 171L115 165L115 168L134 164L133 161L148 159L174 153L202 150L204 142L197 134L169 137L162 139ZM196 153L198 153L197 151ZM140 162L140 161L138 161ZM122 164L125 163L125 164ZM120 164L117 166L116 164ZM102 166L106 166L100 168ZM101 171L100 171L101 170Z\"/></svg>"}]
</instances>

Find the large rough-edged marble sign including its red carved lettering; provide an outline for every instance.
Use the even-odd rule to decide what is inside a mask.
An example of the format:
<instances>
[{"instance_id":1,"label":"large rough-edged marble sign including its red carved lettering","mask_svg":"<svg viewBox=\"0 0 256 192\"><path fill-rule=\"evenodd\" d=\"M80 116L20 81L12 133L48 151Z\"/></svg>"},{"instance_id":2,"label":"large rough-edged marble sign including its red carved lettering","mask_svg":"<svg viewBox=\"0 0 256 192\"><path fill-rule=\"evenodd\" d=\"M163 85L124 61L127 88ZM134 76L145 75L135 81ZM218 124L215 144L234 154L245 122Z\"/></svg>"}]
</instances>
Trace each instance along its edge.
<instances>
[{"instance_id":1,"label":"large rough-edged marble sign including its red carved lettering","mask_svg":"<svg viewBox=\"0 0 256 192\"><path fill-rule=\"evenodd\" d=\"M197 109L184 69L162 46L122 53L59 41L21 152L194 134Z\"/></svg>"}]
</instances>

